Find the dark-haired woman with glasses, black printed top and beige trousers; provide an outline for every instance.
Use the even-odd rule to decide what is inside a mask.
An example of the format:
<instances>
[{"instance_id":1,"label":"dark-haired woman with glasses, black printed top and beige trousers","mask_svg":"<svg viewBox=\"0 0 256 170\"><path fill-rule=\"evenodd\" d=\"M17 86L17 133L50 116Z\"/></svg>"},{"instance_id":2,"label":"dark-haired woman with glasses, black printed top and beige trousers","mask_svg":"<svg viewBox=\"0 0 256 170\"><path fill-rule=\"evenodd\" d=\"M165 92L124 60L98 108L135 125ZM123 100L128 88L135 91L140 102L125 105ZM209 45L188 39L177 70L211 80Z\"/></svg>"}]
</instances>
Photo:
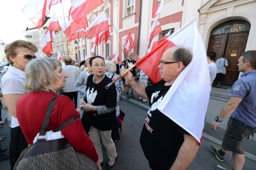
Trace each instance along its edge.
<instances>
[{"instance_id":1,"label":"dark-haired woman with glasses, black printed top and beige trousers","mask_svg":"<svg viewBox=\"0 0 256 170\"><path fill-rule=\"evenodd\" d=\"M93 74L88 76L86 95L81 98L80 103L84 103L82 108L86 111L83 117L86 116L88 119L91 117L90 138L99 155L101 165L103 156L100 138L107 149L109 162L106 169L108 170L114 166L117 158L116 146L111 138L116 122L116 88L110 86L105 89L112 80L104 74L105 63L102 57L92 57L90 65Z\"/></svg>"}]
</instances>

